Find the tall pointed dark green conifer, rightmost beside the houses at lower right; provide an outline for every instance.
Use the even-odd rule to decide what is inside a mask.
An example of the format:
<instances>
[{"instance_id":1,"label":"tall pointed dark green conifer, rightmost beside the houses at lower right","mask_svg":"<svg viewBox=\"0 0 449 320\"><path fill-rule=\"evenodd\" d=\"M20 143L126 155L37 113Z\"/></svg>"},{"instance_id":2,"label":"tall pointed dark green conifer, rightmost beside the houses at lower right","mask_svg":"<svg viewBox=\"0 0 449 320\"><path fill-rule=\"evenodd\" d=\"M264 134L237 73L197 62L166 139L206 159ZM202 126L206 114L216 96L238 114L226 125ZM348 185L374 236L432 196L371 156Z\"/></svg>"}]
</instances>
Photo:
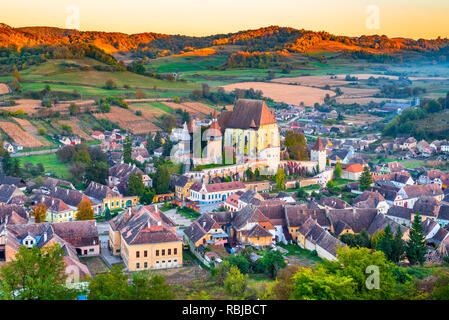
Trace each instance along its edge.
<instances>
[{"instance_id":1,"label":"tall pointed dark green conifer, rightmost beside the houses at lower right","mask_svg":"<svg viewBox=\"0 0 449 320\"><path fill-rule=\"evenodd\" d=\"M406 244L406 256L410 264L424 264L427 253L426 237L423 234L421 216L416 214L413 218L412 227L409 232L409 240Z\"/></svg>"}]
</instances>

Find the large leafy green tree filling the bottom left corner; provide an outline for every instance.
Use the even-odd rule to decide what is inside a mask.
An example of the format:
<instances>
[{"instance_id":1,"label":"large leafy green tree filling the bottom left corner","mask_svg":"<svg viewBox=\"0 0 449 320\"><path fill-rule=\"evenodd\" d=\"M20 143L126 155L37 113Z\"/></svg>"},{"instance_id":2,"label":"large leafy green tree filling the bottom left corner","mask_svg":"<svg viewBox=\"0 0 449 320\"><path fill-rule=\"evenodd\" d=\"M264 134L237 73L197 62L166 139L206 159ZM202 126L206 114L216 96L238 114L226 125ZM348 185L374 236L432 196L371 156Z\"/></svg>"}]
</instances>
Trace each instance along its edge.
<instances>
[{"instance_id":1,"label":"large leafy green tree filling the bottom left corner","mask_svg":"<svg viewBox=\"0 0 449 320\"><path fill-rule=\"evenodd\" d=\"M0 269L0 289L5 299L66 300L76 291L65 285L64 251L58 244L49 247L19 247L15 258Z\"/></svg>"}]
</instances>

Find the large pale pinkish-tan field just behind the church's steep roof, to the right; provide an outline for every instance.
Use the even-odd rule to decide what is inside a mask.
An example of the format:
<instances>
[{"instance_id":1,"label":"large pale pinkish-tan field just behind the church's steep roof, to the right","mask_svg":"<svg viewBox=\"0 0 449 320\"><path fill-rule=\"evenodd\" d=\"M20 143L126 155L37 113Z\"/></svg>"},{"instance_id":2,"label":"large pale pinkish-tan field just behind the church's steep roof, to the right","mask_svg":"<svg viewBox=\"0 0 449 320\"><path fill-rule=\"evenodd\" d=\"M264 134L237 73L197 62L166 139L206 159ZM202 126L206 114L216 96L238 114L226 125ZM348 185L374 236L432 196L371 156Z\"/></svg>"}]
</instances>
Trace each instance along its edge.
<instances>
[{"instance_id":1,"label":"large pale pinkish-tan field just behind the church's steep roof, to the right","mask_svg":"<svg viewBox=\"0 0 449 320\"><path fill-rule=\"evenodd\" d=\"M322 90L317 88L286 85L279 83L265 83L265 82L241 82L223 86L226 91L233 91L235 89L254 89L261 90L264 97L268 97L277 102L284 102L288 104L298 105L303 102L305 105L312 106L316 102L323 103L326 94L333 97L335 92L331 90Z\"/></svg>"}]
</instances>

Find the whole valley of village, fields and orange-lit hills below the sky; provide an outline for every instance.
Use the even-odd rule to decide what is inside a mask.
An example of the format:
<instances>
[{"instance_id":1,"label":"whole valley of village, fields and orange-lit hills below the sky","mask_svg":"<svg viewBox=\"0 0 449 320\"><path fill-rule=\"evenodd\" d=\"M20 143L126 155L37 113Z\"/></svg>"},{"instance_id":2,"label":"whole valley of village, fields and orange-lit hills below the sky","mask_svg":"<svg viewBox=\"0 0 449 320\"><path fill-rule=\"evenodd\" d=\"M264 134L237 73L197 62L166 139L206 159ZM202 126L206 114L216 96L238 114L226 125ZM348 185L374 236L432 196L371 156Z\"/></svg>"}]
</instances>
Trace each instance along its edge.
<instances>
[{"instance_id":1,"label":"whole valley of village, fields and orange-lit hills below the sky","mask_svg":"<svg viewBox=\"0 0 449 320\"><path fill-rule=\"evenodd\" d=\"M447 299L448 39L0 46L0 298Z\"/></svg>"}]
</instances>

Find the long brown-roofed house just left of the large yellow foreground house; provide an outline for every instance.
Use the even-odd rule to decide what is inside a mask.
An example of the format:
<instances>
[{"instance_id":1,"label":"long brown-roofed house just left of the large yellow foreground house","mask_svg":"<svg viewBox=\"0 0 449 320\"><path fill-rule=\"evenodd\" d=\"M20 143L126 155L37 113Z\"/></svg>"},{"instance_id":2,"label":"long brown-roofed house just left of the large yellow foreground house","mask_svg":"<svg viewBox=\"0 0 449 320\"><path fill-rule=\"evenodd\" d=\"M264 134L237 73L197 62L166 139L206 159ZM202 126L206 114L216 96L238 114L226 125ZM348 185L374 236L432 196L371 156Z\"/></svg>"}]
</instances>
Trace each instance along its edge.
<instances>
[{"instance_id":1,"label":"long brown-roofed house just left of the large yellow foreground house","mask_svg":"<svg viewBox=\"0 0 449 320\"><path fill-rule=\"evenodd\" d=\"M79 256L100 254L100 240L95 220L54 223L53 229L58 236L75 248Z\"/></svg>"}]
</instances>

